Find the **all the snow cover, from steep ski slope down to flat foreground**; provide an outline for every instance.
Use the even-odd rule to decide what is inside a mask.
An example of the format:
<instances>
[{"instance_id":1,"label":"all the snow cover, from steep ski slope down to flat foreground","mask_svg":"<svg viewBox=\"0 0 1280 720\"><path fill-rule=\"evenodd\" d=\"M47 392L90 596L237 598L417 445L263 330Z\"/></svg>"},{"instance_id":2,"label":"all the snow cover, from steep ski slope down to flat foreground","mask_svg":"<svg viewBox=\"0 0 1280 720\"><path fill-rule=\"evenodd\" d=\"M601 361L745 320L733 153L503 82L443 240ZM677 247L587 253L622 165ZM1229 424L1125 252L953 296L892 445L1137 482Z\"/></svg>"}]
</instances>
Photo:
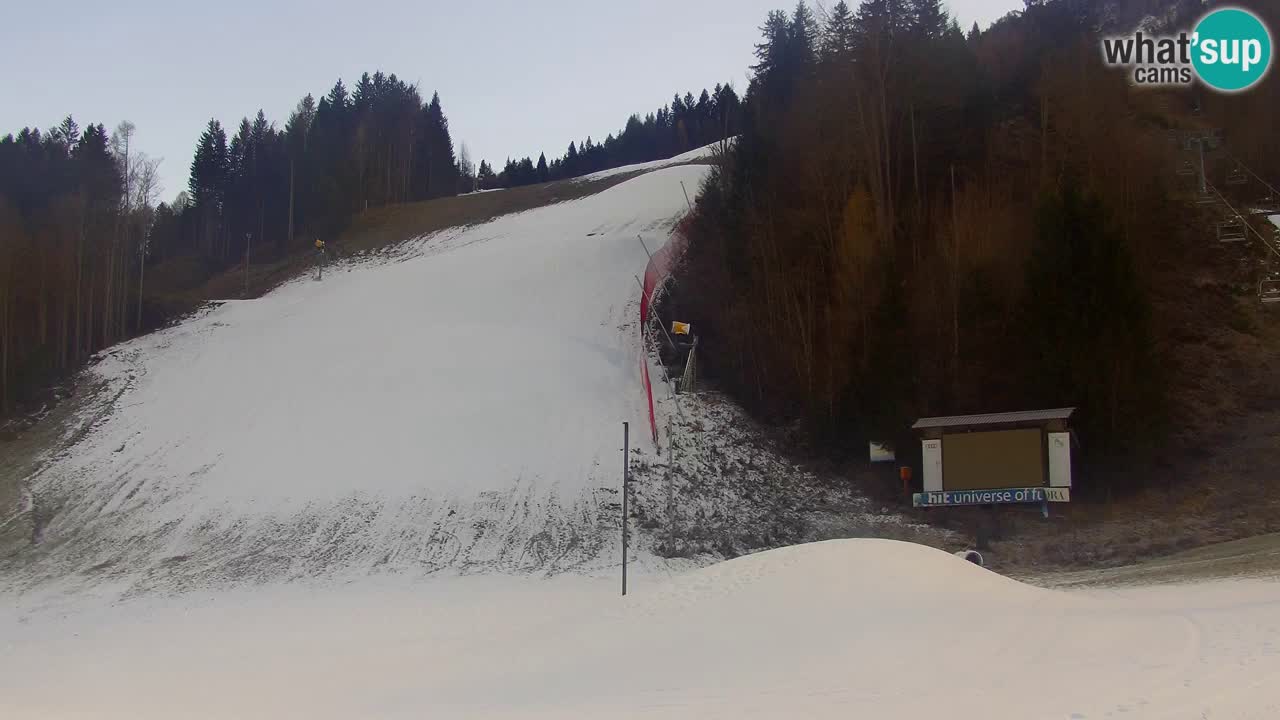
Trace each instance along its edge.
<instances>
[{"instance_id":1,"label":"all the snow cover, from steep ski slope down to flat foreground","mask_svg":"<svg viewBox=\"0 0 1280 720\"><path fill-rule=\"evenodd\" d=\"M660 245L704 173L105 352L28 483L35 542L0 559L0 717L1280 716L1280 583L1050 591L883 539L698 568L934 532L791 466L714 393L664 471L636 236ZM686 560L657 551L668 477Z\"/></svg>"}]
</instances>

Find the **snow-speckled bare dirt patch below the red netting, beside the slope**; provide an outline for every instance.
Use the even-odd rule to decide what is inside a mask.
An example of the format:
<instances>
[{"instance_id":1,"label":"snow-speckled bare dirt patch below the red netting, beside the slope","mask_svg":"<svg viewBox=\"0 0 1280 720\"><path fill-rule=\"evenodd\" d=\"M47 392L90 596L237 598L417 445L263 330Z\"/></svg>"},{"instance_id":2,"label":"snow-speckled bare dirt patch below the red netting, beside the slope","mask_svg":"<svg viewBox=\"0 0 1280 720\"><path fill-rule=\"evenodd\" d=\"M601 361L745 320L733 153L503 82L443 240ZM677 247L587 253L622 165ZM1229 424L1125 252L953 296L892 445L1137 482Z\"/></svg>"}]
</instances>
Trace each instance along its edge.
<instances>
[{"instance_id":1,"label":"snow-speckled bare dirt patch below the red netting, beside the slope","mask_svg":"<svg viewBox=\"0 0 1280 720\"><path fill-rule=\"evenodd\" d=\"M957 533L909 518L860 483L788 460L767 428L719 392L678 396L654 383L673 415L657 456L634 452L637 546L699 564L836 538L886 538L960 550ZM635 428L646 433L648 427Z\"/></svg>"}]
</instances>

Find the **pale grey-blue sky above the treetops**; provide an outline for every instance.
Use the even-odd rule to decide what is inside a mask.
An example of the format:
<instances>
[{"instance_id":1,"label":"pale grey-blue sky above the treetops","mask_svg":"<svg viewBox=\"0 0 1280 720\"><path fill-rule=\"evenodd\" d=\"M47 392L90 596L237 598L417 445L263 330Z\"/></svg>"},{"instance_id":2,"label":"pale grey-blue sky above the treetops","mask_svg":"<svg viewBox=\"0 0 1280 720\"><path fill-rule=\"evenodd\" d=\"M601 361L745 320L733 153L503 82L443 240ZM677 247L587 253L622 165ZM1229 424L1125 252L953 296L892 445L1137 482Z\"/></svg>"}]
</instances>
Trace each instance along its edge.
<instances>
[{"instance_id":1,"label":"pale grey-blue sky above the treetops","mask_svg":"<svg viewBox=\"0 0 1280 720\"><path fill-rule=\"evenodd\" d=\"M823 0L829 6L833 0ZM814 3L810 3L814 5ZM850 3L850 5L856 5ZM746 88L759 26L790 0L73 0L15 3L0 23L0 135L137 126L165 200L187 184L210 118L228 132L259 109L283 127L297 101L381 69L440 94L454 147L502 169L562 155L632 113L717 82ZM1023 0L952 0L986 27Z\"/></svg>"}]
</instances>

